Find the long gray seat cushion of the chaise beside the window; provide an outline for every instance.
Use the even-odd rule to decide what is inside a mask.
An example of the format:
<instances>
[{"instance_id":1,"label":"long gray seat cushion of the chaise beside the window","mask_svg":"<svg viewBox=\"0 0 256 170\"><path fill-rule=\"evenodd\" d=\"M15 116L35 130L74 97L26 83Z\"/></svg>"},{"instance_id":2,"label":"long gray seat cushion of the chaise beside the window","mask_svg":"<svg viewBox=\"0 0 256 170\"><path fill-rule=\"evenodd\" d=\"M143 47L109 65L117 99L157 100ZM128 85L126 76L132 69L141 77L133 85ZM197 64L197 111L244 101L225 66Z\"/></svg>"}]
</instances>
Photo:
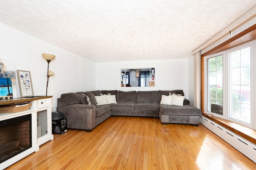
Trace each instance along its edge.
<instances>
[{"instance_id":1,"label":"long gray seat cushion of the chaise beside the window","mask_svg":"<svg viewBox=\"0 0 256 170\"><path fill-rule=\"evenodd\" d=\"M184 115L184 116L200 116L202 111L191 105L174 106L160 104L160 111L163 115Z\"/></svg>"}]
</instances>

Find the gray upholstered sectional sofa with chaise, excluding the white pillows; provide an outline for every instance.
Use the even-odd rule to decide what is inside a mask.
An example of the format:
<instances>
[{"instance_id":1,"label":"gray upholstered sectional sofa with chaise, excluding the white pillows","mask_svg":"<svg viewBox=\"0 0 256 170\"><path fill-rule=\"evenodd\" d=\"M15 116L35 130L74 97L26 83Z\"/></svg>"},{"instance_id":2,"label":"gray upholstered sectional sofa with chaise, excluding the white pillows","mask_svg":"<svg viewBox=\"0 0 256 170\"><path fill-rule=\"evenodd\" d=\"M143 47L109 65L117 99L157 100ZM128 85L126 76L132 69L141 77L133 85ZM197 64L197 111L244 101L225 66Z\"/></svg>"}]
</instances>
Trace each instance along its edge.
<instances>
[{"instance_id":1,"label":"gray upholstered sectional sofa with chaise, excluding the white pillows","mask_svg":"<svg viewBox=\"0 0 256 170\"><path fill-rule=\"evenodd\" d=\"M95 90L90 92L66 93L57 99L57 111L63 113L67 118L68 128L85 129L86 131L92 131L94 127L111 115L159 117L163 124L184 123L199 125L202 112L200 109L190 106L190 102L186 98L183 101L183 106L160 104L162 95L168 96L170 92L184 96L183 90L138 92ZM96 98L102 95L115 95L116 103L98 106ZM85 100L85 96L87 100Z\"/></svg>"}]
</instances>

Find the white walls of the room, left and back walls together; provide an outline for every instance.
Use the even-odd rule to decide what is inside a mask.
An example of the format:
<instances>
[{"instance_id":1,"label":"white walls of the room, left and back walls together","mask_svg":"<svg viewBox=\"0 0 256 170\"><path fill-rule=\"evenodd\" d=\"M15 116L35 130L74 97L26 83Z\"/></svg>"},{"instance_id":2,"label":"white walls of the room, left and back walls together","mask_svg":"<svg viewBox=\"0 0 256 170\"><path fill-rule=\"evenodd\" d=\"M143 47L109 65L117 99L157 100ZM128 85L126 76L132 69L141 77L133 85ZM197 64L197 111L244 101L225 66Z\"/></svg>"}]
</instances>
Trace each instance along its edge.
<instances>
[{"instance_id":1,"label":"white walls of the room, left and back walls together","mask_svg":"<svg viewBox=\"0 0 256 170\"><path fill-rule=\"evenodd\" d=\"M56 55L49 68L54 71L55 76L50 77L48 85L48 95L53 96L54 111L57 107L57 98L61 94L90 90L182 89L186 98L190 101L194 99L189 88L189 84L194 82L188 78L189 65L193 64L193 61L190 63L188 59L94 63L0 22L0 59L15 61L16 70L31 72L34 96L46 95L47 62L42 58L42 53ZM144 67L155 67L155 87L120 87L121 68ZM18 83L17 94L14 97L20 97Z\"/></svg>"}]
</instances>

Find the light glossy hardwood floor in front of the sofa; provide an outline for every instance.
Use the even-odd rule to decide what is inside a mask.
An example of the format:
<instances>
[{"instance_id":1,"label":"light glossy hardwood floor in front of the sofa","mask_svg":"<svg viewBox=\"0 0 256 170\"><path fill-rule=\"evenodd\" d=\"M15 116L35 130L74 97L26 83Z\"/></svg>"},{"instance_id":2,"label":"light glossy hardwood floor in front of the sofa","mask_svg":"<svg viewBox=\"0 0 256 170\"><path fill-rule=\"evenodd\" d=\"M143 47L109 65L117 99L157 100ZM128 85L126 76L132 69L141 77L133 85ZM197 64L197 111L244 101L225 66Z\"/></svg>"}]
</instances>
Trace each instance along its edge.
<instances>
[{"instance_id":1,"label":"light glossy hardwood floor in front of the sofa","mask_svg":"<svg viewBox=\"0 0 256 170\"><path fill-rule=\"evenodd\" d=\"M152 117L109 117L92 132L68 129L8 170L256 169L256 164L203 125Z\"/></svg>"}]
</instances>

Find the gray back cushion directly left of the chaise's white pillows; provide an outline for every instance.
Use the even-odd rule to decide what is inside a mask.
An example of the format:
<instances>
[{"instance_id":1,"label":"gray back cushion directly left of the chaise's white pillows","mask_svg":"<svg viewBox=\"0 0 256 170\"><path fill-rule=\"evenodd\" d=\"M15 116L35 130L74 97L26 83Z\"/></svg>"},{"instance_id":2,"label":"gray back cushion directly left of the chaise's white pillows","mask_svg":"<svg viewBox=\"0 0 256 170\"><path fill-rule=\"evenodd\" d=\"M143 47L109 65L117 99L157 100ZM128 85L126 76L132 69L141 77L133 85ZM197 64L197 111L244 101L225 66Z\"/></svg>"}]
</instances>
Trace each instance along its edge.
<instances>
[{"instance_id":1,"label":"gray back cushion directly left of the chaise's white pillows","mask_svg":"<svg viewBox=\"0 0 256 170\"><path fill-rule=\"evenodd\" d=\"M138 91L136 103L157 104L157 91Z\"/></svg>"}]
</instances>

